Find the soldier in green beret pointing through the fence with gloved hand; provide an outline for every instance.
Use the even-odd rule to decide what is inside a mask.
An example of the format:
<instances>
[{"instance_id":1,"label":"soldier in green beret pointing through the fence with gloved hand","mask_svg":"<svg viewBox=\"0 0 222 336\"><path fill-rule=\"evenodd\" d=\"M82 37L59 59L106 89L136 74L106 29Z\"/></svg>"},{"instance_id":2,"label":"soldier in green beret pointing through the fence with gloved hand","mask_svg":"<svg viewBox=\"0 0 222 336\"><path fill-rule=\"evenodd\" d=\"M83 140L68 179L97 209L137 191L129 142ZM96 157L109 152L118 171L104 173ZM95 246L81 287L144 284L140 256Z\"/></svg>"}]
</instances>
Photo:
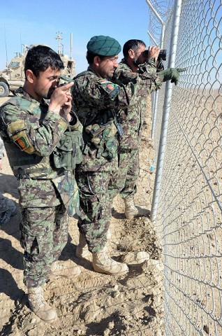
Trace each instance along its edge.
<instances>
[{"instance_id":1,"label":"soldier in green beret pointing through the fence with gloved hand","mask_svg":"<svg viewBox=\"0 0 222 336\"><path fill-rule=\"evenodd\" d=\"M107 78L117 69L121 47L109 36L94 36L87 44L89 68L77 75L73 85L75 112L83 125L84 155L76 170L80 189L80 244L76 255L83 256L87 241L93 255L93 267L106 274L126 274L128 267L112 260L105 248L110 226L111 207L108 186L117 171L117 132L121 127L116 111L134 108L161 85L156 74L133 76L126 85L116 85Z\"/></svg>"}]
</instances>

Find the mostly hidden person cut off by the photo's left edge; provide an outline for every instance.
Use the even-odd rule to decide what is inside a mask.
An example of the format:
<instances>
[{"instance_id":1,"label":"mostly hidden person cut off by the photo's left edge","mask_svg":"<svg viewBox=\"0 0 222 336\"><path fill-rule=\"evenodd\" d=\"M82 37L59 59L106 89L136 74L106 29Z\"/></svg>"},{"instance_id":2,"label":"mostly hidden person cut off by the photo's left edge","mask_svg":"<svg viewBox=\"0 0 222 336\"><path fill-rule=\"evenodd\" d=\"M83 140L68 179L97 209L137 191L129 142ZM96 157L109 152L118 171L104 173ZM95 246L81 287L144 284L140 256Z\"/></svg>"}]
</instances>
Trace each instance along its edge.
<instances>
[{"instance_id":1,"label":"mostly hidden person cut off by the photo's left edge","mask_svg":"<svg viewBox=\"0 0 222 336\"><path fill-rule=\"evenodd\" d=\"M0 170L2 169L3 150L3 141L0 138ZM15 202L0 193L0 227L3 224L7 224L10 221L10 217L15 214L17 214Z\"/></svg>"}]
</instances>

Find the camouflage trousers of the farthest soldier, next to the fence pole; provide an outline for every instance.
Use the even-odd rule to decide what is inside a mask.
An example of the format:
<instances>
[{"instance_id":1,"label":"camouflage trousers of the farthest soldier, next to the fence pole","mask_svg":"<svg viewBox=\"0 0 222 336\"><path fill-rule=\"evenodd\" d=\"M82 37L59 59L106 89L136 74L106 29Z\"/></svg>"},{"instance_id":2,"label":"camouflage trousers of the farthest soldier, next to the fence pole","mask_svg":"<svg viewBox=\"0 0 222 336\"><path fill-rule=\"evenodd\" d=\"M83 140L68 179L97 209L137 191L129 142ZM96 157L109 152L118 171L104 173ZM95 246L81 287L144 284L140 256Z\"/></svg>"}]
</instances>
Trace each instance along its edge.
<instances>
[{"instance_id":1,"label":"camouflage trousers of the farthest soldier, next to the fence pole","mask_svg":"<svg viewBox=\"0 0 222 336\"><path fill-rule=\"evenodd\" d=\"M124 152L124 151L123 151ZM118 169L112 174L109 184L110 200L119 194L126 199L135 195L136 183L140 173L138 148L119 153Z\"/></svg>"}]
</instances>

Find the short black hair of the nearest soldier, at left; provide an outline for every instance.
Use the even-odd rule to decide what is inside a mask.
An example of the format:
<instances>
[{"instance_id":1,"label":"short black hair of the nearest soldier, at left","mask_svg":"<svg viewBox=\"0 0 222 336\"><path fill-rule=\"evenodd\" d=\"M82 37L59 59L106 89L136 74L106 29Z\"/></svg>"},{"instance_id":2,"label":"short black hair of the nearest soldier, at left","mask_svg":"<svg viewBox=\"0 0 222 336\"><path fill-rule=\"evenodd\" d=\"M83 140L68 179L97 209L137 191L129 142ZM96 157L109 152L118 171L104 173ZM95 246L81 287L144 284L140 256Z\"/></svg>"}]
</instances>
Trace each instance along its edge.
<instances>
[{"instance_id":1,"label":"short black hair of the nearest soldier, at left","mask_svg":"<svg viewBox=\"0 0 222 336\"><path fill-rule=\"evenodd\" d=\"M64 64L57 52L46 45L36 45L29 49L24 61L24 73L29 69L38 77L40 71L45 71L49 66L53 70L64 69Z\"/></svg>"}]
</instances>

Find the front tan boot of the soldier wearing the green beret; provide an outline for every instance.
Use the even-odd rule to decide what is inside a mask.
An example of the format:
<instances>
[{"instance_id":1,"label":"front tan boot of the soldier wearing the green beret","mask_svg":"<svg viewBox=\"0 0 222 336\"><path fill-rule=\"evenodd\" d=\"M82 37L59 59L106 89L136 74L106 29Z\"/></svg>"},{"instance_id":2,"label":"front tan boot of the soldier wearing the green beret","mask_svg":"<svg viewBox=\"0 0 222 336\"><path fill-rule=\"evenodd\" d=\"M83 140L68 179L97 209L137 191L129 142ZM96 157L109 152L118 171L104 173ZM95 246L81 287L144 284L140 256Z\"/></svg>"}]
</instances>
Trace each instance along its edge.
<instances>
[{"instance_id":1,"label":"front tan boot of the soldier wearing the green beret","mask_svg":"<svg viewBox=\"0 0 222 336\"><path fill-rule=\"evenodd\" d=\"M96 272L109 275L124 275L128 272L126 264L117 262L110 258L106 247L97 253L92 253L92 255L93 267Z\"/></svg>"}]
</instances>

